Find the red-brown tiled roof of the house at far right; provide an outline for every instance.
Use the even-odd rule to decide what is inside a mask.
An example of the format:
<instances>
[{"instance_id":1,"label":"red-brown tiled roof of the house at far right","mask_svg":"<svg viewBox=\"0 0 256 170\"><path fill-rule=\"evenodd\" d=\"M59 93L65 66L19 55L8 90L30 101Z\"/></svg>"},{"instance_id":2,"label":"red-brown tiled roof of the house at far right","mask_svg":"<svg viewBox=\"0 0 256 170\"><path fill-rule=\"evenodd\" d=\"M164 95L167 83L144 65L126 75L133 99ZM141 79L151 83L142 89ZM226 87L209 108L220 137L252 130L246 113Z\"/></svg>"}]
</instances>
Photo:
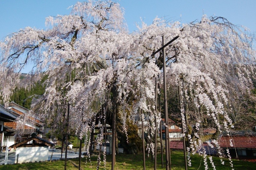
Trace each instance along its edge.
<instances>
[{"instance_id":1,"label":"red-brown tiled roof of the house at far right","mask_svg":"<svg viewBox=\"0 0 256 170\"><path fill-rule=\"evenodd\" d=\"M233 146L230 146L230 139ZM220 147L256 148L256 136L222 136L219 144Z\"/></svg>"}]
</instances>

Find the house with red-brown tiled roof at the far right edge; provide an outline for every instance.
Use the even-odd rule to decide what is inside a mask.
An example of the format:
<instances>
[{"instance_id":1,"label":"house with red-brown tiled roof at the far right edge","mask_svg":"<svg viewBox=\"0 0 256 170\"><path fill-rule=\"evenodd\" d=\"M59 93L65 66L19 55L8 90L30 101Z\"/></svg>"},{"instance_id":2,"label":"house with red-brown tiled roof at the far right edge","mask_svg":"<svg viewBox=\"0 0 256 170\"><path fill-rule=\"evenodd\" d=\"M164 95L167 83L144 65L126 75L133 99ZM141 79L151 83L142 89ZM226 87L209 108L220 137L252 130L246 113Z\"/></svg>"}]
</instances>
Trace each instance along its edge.
<instances>
[{"instance_id":1,"label":"house with red-brown tiled roof at the far right edge","mask_svg":"<svg viewBox=\"0 0 256 170\"><path fill-rule=\"evenodd\" d=\"M231 158L256 162L256 133L253 131L234 131L223 133L219 139L220 147Z\"/></svg>"}]
</instances>

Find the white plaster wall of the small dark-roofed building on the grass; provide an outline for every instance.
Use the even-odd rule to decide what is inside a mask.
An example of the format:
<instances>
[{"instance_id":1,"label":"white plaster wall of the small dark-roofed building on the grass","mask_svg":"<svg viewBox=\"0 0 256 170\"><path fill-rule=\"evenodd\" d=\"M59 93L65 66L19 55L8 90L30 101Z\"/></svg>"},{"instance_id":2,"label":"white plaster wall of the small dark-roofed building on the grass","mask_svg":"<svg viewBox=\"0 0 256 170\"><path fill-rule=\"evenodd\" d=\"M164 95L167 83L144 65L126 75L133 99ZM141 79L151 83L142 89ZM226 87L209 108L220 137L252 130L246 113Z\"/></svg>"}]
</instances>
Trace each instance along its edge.
<instances>
[{"instance_id":1,"label":"white plaster wall of the small dark-roofed building on the grass","mask_svg":"<svg viewBox=\"0 0 256 170\"><path fill-rule=\"evenodd\" d=\"M36 147L19 147L16 149L15 163L17 163L17 155L19 154L18 163L35 162L48 160L48 146Z\"/></svg>"}]
</instances>

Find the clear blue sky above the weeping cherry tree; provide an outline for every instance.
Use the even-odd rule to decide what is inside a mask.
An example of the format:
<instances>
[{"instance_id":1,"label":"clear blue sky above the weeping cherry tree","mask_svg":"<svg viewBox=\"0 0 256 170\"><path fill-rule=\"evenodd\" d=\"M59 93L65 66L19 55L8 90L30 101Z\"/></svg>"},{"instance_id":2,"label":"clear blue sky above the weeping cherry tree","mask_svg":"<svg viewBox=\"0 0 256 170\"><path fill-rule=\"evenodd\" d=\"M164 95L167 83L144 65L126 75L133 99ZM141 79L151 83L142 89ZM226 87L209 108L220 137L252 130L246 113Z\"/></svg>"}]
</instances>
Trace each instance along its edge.
<instances>
[{"instance_id":1,"label":"clear blue sky above the weeping cherry tree","mask_svg":"<svg viewBox=\"0 0 256 170\"><path fill-rule=\"evenodd\" d=\"M44 29L48 16L69 14L77 0L0 0L0 40L26 26ZM256 32L256 0L116 0L125 9L129 30L136 30L140 17L147 24L165 17L188 23L203 14L227 18ZM181 15L181 17L180 17Z\"/></svg>"}]
</instances>

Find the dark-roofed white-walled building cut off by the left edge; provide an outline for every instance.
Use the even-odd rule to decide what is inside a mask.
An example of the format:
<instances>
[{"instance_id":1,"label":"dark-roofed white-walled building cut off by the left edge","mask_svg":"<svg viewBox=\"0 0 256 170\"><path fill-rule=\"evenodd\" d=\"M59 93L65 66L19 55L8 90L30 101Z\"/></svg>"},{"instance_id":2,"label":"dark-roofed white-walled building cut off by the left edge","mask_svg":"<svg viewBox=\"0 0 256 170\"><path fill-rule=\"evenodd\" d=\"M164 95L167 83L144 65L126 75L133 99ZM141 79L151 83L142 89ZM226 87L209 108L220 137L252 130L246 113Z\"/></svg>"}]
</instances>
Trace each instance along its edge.
<instances>
[{"instance_id":1,"label":"dark-roofed white-walled building cut off by the left edge","mask_svg":"<svg viewBox=\"0 0 256 170\"><path fill-rule=\"evenodd\" d=\"M4 126L4 123L15 122L17 116L12 115L12 111L0 105L0 142L1 142L1 152L7 146L7 138L10 141L9 145L14 144L14 137L8 136L12 133L12 129ZM13 141L13 143L12 143Z\"/></svg>"}]
</instances>

